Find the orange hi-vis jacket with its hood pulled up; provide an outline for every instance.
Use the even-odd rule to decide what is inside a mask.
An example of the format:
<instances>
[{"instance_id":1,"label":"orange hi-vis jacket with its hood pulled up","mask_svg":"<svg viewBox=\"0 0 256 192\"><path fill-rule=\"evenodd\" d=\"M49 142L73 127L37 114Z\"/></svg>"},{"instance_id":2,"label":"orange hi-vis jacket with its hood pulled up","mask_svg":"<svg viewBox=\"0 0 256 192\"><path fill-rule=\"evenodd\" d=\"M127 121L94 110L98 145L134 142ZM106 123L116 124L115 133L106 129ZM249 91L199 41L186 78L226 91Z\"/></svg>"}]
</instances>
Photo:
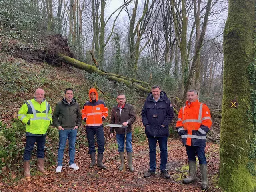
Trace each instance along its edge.
<instances>
[{"instance_id":1,"label":"orange hi-vis jacket with its hood pulled up","mask_svg":"<svg viewBox=\"0 0 256 192\"><path fill-rule=\"evenodd\" d=\"M96 94L96 100L92 100L90 94ZM102 100L98 100L98 92L96 89L89 90L90 101L84 104L82 109L82 120L86 122L86 128L97 128L102 126L102 122L108 116L108 108Z\"/></svg>"}]
</instances>

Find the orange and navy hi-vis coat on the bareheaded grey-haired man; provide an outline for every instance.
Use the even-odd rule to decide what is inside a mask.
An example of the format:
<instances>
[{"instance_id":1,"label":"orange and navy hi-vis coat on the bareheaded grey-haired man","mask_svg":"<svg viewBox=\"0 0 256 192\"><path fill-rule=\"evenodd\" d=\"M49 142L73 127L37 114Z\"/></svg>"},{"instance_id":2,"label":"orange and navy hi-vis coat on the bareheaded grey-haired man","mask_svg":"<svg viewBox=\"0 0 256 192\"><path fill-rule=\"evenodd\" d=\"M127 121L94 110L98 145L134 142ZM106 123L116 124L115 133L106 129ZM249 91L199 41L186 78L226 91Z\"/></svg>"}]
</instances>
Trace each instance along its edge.
<instances>
[{"instance_id":1,"label":"orange and navy hi-vis coat on the bareheaded grey-haired man","mask_svg":"<svg viewBox=\"0 0 256 192\"><path fill-rule=\"evenodd\" d=\"M209 108L198 100L180 109L176 128L183 145L204 147L206 133L212 125Z\"/></svg>"}]
</instances>

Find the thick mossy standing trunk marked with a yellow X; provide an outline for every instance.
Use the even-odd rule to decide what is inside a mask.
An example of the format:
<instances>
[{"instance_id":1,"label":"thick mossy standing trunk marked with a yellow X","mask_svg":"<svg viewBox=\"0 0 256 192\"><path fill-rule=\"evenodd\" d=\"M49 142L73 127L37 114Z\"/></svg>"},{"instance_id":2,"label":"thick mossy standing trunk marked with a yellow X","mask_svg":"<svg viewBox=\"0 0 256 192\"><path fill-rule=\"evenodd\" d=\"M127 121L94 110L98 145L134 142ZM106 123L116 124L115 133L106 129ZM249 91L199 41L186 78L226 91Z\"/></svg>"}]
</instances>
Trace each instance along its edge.
<instances>
[{"instance_id":1,"label":"thick mossy standing trunk marked with a yellow X","mask_svg":"<svg viewBox=\"0 0 256 192\"><path fill-rule=\"evenodd\" d=\"M255 176L248 169L250 83L248 65L254 57L255 0L229 0L224 29L224 77L220 132L220 186L228 192L252 192ZM238 106L231 108L236 99ZM234 102L234 101L233 101Z\"/></svg>"}]
</instances>

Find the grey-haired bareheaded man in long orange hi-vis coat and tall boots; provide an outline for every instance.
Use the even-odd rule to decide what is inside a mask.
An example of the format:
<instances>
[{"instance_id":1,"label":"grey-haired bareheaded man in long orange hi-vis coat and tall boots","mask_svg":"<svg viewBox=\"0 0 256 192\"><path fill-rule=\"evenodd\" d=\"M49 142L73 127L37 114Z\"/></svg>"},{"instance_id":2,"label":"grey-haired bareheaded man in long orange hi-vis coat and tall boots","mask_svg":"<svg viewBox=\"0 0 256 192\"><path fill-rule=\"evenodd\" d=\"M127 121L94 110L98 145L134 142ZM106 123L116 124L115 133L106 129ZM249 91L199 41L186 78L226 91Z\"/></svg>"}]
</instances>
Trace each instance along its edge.
<instances>
[{"instance_id":1,"label":"grey-haired bareheaded man in long orange hi-vis coat and tall boots","mask_svg":"<svg viewBox=\"0 0 256 192\"><path fill-rule=\"evenodd\" d=\"M206 104L202 104L198 101L197 92L195 90L188 90L186 105L180 109L176 124L178 134L181 136L183 145L185 145L188 154L189 176L182 181L188 184L197 180L197 155L202 174L201 188L203 190L207 190L209 187L204 148L206 146L206 133L211 125L212 120L209 108Z\"/></svg>"}]
</instances>

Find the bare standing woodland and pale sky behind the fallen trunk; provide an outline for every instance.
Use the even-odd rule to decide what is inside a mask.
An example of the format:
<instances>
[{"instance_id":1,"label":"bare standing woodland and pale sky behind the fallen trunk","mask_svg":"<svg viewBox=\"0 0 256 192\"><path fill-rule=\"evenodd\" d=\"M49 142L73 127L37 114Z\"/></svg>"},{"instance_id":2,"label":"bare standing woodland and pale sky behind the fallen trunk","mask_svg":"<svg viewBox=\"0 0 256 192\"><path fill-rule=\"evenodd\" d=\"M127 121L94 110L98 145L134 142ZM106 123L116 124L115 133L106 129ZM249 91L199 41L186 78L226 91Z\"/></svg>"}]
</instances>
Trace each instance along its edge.
<instances>
[{"instance_id":1,"label":"bare standing woodland and pale sky behind the fallen trunk","mask_svg":"<svg viewBox=\"0 0 256 192\"><path fill-rule=\"evenodd\" d=\"M62 34L76 59L100 70L160 84L179 97L222 101L222 34L227 0L130 0L114 12L110 0L3 0L3 31ZM92 59L92 55L93 58ZM185 90L185 91L184 91ZM184 103L186 98L181 98Z\"/></svg>"}]
</instances>

